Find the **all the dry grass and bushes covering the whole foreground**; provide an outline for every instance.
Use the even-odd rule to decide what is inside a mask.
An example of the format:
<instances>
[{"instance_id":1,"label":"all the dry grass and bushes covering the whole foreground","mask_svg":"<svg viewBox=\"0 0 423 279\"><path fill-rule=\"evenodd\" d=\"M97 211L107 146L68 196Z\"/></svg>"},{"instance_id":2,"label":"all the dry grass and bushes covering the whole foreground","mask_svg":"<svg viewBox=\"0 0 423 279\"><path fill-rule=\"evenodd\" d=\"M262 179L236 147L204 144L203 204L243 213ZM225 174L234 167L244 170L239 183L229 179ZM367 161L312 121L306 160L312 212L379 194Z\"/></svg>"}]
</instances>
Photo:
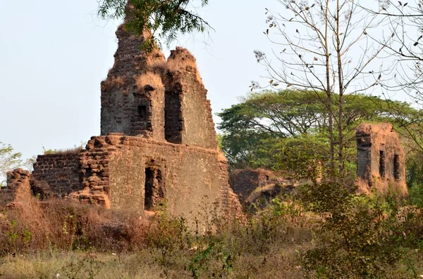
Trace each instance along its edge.
<instances>
[{"instance_id":1,"label":"all the dry grass and bushes covering the whole foreground","mask_svg":"<svg viewBox=\"0 0 423 279\"><path fill-rule=\"evenodd\" d=\"M302 186L244 221L199 223L158 213L38 202L0 215L3 278L416 278L423 212L356 195L338 183ZM197 225L197 226L196 226ZM190 228L190 229L189 229ZM25 268L23 268L25 266Z\"/></svg>"}]
</instances>

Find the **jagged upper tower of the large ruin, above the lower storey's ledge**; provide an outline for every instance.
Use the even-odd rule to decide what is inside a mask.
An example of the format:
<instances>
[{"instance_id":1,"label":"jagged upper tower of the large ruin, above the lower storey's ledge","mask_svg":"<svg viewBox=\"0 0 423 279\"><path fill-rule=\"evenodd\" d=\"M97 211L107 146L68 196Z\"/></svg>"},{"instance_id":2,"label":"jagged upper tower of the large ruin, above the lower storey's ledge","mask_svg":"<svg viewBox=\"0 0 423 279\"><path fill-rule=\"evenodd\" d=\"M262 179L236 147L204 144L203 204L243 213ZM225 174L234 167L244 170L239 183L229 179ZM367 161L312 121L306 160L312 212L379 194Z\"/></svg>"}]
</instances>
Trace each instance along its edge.
<instances>
[{"instance_id":1,"label":"jagged upper tower of the large ruin, above the lower storey's ledge","mask_svg":"<svg viewBox=\"0 0 423 279\"><path fill-rule=\"evenodd\" d=\"M207 90L194 56L176 48L166 60L158 49L141 50L121 25L114 66L102 82L101 134L123 133L155 141L217 148Z\"/></svg>"}]
</instances>

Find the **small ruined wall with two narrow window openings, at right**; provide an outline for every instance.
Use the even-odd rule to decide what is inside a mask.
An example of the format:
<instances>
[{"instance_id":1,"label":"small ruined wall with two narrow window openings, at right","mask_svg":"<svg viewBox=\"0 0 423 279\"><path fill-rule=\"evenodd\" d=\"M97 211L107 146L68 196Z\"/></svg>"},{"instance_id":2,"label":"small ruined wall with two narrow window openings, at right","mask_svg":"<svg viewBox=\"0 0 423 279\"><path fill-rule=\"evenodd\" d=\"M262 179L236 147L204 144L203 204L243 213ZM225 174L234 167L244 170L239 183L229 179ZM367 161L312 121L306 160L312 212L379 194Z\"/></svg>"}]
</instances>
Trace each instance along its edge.
<instances>
[{"instance_id":1,"label":"small ruined wall with two narrow window openings, at right","mask_svg":"<svg viewBox=\"0 0 423 279\"><path fill-rule=\"evenodd\" d=\"M389 123L362 123L356 130L357 178L363 192L407 195L405 153Z\"/></svg>"}]
</instances>

